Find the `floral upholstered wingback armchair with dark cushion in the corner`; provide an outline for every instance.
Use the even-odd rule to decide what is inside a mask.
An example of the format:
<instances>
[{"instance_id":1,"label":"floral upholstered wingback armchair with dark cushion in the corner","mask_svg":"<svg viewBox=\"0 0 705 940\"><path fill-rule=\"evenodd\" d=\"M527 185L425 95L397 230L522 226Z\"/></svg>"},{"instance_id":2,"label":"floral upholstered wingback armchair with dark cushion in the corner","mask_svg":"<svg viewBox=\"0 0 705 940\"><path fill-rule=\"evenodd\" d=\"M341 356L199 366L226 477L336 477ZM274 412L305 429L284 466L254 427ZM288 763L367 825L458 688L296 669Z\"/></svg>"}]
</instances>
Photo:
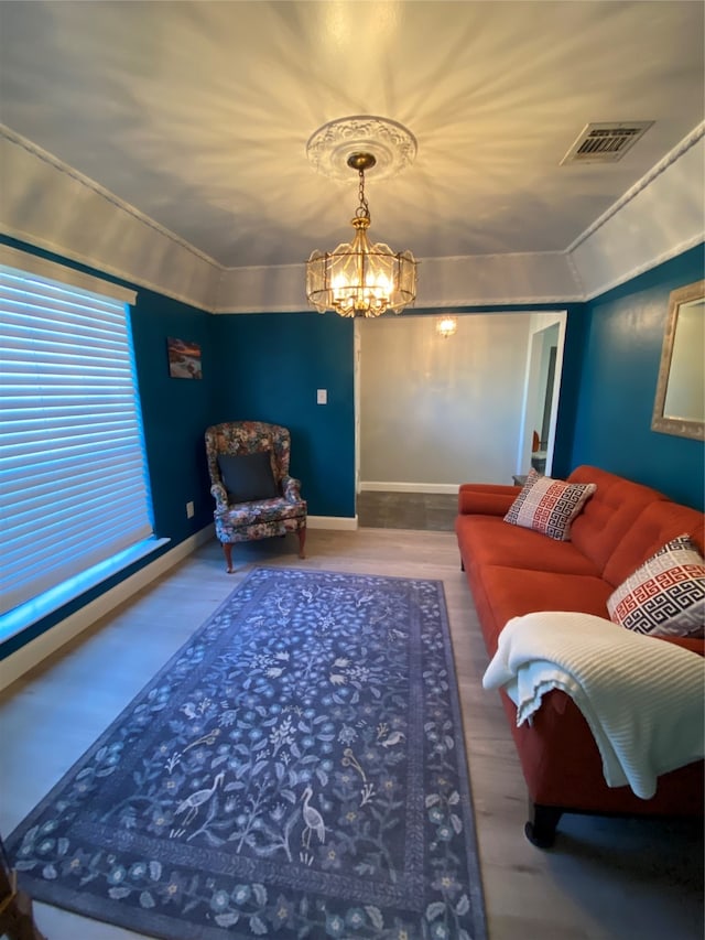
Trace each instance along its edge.
<instances>
[{"instance_id":1,"label":"floral upholstered wingback armchair with dark cushion in the corner","mask_svg":"<svg viewBox=\"0 0 705 940\"><path fill-rule=\"evenodd\" d=\"M216 500L216 534L228 566L234 542L299 534L304 558L306 501L301 483L289 476L291 435L262 421L231 421L206 430L210 494Z\"/></svg>"}]
</instances>

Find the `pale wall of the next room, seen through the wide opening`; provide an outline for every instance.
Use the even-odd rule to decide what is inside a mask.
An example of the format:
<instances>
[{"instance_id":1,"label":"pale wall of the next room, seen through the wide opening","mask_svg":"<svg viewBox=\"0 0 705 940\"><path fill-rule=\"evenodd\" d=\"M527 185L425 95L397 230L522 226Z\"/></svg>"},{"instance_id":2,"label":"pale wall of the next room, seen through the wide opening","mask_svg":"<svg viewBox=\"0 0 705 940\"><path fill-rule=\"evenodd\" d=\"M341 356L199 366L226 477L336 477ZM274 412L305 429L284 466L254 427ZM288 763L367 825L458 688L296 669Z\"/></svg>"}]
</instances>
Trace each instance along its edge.
<instances>
[{"instance_id":1,"label":"pale wall of the next room, seen through the wide opening","mask_svg":"<svg viewBox=\"0 0 705 940\"><path fill-rule=\"evenodd\" d=\"M511 483L531 317L458 314L447 339L437 320L358 321L361 488Z\"/></svg>"}]
</instances>

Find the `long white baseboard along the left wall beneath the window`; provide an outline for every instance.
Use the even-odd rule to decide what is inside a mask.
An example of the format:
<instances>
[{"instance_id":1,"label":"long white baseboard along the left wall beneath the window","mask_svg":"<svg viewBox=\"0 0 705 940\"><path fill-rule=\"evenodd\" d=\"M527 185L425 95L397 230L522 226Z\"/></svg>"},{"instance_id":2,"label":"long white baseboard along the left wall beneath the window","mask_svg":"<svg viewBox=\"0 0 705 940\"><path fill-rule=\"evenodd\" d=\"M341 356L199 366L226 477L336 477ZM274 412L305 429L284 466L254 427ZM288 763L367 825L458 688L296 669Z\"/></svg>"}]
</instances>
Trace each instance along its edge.
<instances>
[{"instance_id":1,"label":"long white baseboard along the left wall beneath the window","mask_svg":"<svg viewBox=\"0 0 705 940\"><path fill-rule=\"evenodd\" d=\"M46 633L31 640L20 649L10 653L0 662L0 690L7 689L10 683L14 682L30 669L37 666L47 656L56 652L62 646L77 637L78 634L87 629L97 619L108 614L118 604L122 604L142 587L145 587L150 582L159 577L170 568L173 568L180 561L187 558L199 545L210 541L215 537L214 526L210 523L196 532L191 538L180 542L171 551L160 555L151 564L137 571L133 575L116 584L100 597L86 604L79 611L70 614L66 619L61 620Z\"/></svg>"}]
</instances>

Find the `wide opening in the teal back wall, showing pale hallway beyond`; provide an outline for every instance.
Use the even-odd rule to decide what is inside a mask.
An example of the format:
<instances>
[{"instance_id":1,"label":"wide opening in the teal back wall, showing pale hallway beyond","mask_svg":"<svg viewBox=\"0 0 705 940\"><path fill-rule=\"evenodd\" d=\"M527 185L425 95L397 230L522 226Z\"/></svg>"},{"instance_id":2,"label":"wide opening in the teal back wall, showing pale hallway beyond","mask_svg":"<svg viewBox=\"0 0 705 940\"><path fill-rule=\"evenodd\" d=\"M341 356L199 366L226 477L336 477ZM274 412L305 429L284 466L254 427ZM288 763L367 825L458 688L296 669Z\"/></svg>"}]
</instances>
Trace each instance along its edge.
<instances>
[{"instance_id":1,"label":"wide opening in the teal back wall, showing pale hallway beyond","mask_svg":"<svg viewBox=\"0 0 705 940\"><path fill-rule=\"evenodd\" d=\"M457 498L460 483L510 484L532 461L550 473L566 320L468 313L451 338L425 315L356 321L356 515L368 491Z\"/></svg>"}]
</instances>

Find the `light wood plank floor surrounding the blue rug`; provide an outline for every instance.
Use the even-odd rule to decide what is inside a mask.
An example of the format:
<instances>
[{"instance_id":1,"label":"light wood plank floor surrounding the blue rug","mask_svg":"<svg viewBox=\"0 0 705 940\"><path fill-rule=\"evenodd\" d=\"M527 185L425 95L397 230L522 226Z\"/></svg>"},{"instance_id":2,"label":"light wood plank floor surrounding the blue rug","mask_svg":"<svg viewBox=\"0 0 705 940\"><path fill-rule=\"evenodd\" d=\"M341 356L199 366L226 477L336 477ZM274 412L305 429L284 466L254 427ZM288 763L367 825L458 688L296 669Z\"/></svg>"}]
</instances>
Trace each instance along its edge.
<instances>
[{"instance_id":1,"label":"light wood plank floor surrounding the blue rug","mask_svg":"<svg viewBox=\"0 0 705 940\"><path fill-rule=\"evenodd\" d=\"M236 547L225 573L209 543L0 695L0 832L9 833L153 673L258 564L440 579L463 703L490 940L702 940L699 826L565 817L551 852L523 836L525 796L503 710L480 685L487 655L455 536L312 530ZM36 905L48 940L134 933Z\"/></svg>"}]
</instances>

